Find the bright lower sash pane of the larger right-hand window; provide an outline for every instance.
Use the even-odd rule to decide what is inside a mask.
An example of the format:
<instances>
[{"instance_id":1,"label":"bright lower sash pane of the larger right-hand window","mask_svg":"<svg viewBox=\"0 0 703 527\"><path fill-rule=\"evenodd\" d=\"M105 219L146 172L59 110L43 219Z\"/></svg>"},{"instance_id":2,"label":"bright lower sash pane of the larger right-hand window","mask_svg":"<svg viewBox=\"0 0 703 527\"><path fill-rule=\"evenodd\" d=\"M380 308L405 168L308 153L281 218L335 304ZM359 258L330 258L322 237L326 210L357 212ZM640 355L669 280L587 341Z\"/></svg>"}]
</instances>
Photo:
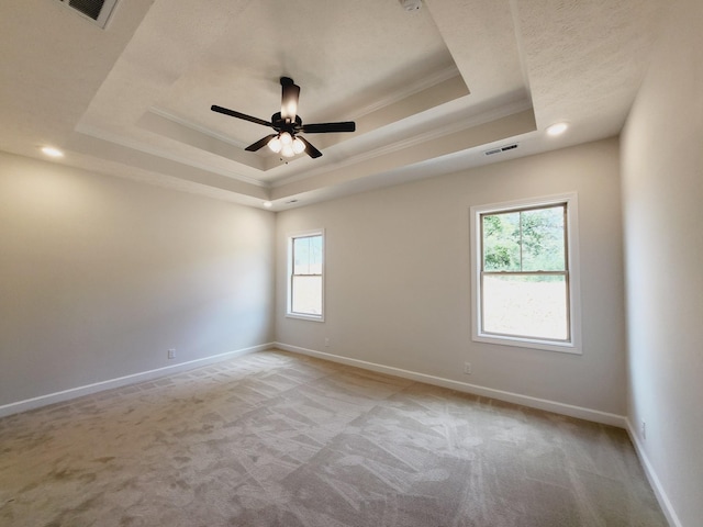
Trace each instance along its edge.
<instances>
[{"instance_id":1,"label":"bright lower sash pane of the larger right-hand window","mask_svg":"<svg viewBox=\"0 0 703 527\"><path fill-rule=\"evenodd\" d=\"M483 332L567 340L563 276L483 277Z\"/></svg>"}]
</instances>

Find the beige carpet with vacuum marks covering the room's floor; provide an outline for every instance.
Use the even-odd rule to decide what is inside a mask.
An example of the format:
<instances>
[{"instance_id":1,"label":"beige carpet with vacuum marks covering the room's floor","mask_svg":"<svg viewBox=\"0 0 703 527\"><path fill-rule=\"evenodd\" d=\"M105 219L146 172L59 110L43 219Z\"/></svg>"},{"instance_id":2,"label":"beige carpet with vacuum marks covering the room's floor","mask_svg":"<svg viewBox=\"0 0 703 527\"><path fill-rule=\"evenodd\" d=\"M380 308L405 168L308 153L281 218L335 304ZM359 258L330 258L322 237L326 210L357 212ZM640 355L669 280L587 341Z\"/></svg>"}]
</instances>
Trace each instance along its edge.
<instances>
[{"instance_id":1,"label":"beige carpet with vacuum marks covering the room's floor","mask_svg":"<svg viewBox=\"0 0 703 527\"><path fill-rule=\"evenodd\" d=\"M266 351L0 419L0 525L666 520L624 430Z\"/></svg>"}]
</instances>

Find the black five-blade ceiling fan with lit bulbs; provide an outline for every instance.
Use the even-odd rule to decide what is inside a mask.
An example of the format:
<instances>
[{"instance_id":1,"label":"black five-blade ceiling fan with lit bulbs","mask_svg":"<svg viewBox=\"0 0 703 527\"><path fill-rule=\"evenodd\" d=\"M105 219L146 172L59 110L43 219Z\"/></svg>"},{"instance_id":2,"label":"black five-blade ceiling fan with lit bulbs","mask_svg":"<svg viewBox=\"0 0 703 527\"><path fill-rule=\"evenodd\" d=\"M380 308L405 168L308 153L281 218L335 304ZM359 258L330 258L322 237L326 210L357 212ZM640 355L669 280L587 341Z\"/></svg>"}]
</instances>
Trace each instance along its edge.
<instances>
[{"instance_id":1,"label":"black five-blade ceiling fan with lit bulbs","mask_svg":"<svg viewBox=\"0 0 703 527\"><path fill-rule=\"evenodd\" d=\"M298 115L298 99L300 97L300 86L293 82L289 77L281 77L281 111L271 115L271 121L253 117L245 113L235 112L226 108L213 104L210 109L213 112L223 113L232 117L243 119L256 124L269 126L276 131L275 134L257 141L247 146L245 150L257 152L265 146L280 153L284 157L293 157L297 154L305 152L310 157L316 158L322 156L322 152L311 145L308 139L299 136L300 132L305 134L328 134L331 132L354 132L356 124L353 121L343 121L338 123L316 123L303 124L300 115Z\"/></svg>"}]
</instances>

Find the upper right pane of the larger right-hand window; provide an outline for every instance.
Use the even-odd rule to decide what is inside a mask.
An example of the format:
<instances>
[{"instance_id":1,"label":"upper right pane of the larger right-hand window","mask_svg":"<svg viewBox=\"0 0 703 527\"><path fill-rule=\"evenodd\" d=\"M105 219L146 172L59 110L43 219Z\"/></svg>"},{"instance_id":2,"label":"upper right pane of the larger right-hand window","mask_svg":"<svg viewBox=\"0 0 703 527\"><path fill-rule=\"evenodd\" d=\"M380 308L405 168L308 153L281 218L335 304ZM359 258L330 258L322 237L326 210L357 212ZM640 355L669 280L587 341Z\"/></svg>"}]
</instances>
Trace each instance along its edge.
<instances>
[{"instance_id":1,"label":"upper right pane of the larger right-hand window","mask_svg":"<svg viewBox=\"0 0 703 527\"><path fill-rule=\"evenodd\" d=\"M521 213L522 270L566 270L563 205Z\"/></svg>"}]
</instances>

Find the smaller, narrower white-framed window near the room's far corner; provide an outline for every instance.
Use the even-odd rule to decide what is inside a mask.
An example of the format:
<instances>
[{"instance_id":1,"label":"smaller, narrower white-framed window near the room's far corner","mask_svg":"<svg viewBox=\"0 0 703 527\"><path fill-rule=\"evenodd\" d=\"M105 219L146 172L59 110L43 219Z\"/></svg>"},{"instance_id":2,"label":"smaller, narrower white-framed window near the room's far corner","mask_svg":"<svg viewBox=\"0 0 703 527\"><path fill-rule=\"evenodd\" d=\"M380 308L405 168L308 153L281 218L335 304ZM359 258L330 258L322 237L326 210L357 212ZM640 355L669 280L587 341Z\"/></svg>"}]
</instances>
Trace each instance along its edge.
<instances>
[{"instance_id":1,"label":"smaller, narrower white-framed window near the room's far corner","mask_svg":"<svg viewBox=\"0 0 703 527\"><path fill-rule=\"evenodd\" d=\"M288 316L323 321L323 232L288 238Z\"/></svg>"}]
</instances>

